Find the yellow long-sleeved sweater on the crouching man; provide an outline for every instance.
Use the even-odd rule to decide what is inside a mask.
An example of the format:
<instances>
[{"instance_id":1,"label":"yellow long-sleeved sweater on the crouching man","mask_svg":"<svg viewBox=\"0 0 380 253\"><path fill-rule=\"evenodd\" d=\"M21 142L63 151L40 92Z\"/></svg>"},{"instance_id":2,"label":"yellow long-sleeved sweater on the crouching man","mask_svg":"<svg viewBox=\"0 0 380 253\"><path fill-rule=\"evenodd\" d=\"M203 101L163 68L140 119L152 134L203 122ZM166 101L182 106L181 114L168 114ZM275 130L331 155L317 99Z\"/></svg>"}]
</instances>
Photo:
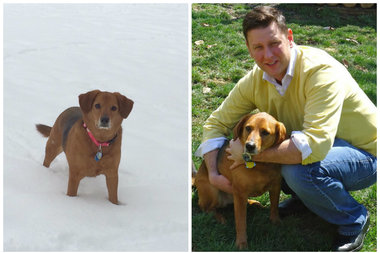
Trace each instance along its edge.
<instances>
[{"instance_id":1,"label":"yellow long-sleeved sweater on the crouching man","mask_svg":"<svg viewBox=\"0 0 380 253\"><path fill-rule=\"evenodd\" d=\"M320 49L297 46L294 76L281 96L263 80L255 65L207 119L203 142L228 136L239 119L259 109L283 122L288 134L302 131L312 153L302 161L324 159L334 138L341 138L376 156L376 107L346 68Z\"/></svg>"}]
</instances>

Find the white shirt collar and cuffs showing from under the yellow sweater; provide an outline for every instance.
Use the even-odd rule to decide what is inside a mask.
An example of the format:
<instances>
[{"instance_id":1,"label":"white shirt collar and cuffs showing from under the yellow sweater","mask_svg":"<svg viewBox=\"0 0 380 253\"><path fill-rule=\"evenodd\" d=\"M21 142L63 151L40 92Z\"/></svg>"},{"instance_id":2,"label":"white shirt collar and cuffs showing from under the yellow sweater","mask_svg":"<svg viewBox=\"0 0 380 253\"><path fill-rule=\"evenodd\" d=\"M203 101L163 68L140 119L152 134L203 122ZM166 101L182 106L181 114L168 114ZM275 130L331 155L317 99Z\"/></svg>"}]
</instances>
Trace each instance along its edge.
<instances>
[{"instance_id":1,"label":"white shirt collar and cuffs showing from under the yellow sweater","mask_svg":"<svg viewBox=\"0 0 380 253\"><path fill-rule=\"evenodd\" d=\"M290 82L293 79L294 66L296 64L296 60L297 60L296 44L292 42L292 48L290 50L289 65L286 70L285 76L281 80L282 84L280 85L279 83L277 83L276 79L268 75L266 72L264 72L263 74L263 79L273 84L281 96L284 96L286 90L289 87ZM295 144L295 146L297 147L297 149L302 153L302 160L306 159L312 153L310 145L307 141L307 137L302 131L293 131L291 134L291 139L293 143ZM194 155L203 157L204 154L222 147L225 140L227 140L227 138L225 137L209 139L203 142L198 147Z\"/></svg>"}]
</instances>

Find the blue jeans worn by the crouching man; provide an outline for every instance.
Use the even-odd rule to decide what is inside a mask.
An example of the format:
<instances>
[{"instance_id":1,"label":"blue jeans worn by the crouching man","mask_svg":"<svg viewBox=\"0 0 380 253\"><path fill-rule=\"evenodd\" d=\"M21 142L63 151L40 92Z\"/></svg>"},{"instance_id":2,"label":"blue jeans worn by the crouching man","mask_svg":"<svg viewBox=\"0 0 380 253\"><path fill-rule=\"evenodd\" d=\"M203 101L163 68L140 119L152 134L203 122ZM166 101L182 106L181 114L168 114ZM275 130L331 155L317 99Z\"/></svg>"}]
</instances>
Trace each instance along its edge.
<instances>
[{"instance_id":1,"label":"blue jeans worn by the crouching man","mask_svg":"<svg viewBox=\"0 0 380 253\"><path fill-rule=\"evenodd\" d=\"M363 228L367 209L348 191L376 183L377 158L335 139L321 162L282 165L282 176L290 189L310 211L338 225L338 233L356 235Z\"/></svg>"}]
</instances>

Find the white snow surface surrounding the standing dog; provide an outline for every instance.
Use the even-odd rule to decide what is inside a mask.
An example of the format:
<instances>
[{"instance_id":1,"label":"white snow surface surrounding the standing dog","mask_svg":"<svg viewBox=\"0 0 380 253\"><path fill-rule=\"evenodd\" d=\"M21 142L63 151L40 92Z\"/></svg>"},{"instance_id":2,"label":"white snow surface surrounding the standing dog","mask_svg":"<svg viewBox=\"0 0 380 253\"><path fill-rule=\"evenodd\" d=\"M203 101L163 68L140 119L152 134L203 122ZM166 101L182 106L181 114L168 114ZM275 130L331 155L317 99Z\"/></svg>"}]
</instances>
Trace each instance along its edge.
<instances>
[{"instance_id":1,"label":"white snow surface surrounding the standing dog","mask_svg":"<svg viewBox=\"0 0 380 253\"><path fill-rule=\"evenodd\" d=\"M187 4L4 5L5 251L188 251L187 17ZM35 124L93 89L135 102L119 206L104 176L66 196L64 154L42 166Z\"/></svg>"}]
</instances>

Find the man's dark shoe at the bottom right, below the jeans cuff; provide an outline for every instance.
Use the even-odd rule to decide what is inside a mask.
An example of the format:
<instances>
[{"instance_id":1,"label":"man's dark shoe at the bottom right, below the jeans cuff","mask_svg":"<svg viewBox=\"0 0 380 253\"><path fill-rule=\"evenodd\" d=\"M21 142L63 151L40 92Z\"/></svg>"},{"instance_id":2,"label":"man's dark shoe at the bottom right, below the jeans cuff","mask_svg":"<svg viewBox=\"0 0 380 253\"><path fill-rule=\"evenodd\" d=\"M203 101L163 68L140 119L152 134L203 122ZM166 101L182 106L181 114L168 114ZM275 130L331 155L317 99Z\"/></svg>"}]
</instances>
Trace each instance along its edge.
<instances>
[{"instance_id":1,"label":"man's dark shoe at the bottom right, below the jeans cuff","mask_svg":"<svg viewBox=\"0 0 380 253\"><path fill-rule=\"evenodd\" d=\"M344 236L338 235L335 240L333 250L334 251L359 251L363 247L365 235L369 228L369 214L367 221L358 235Z\"/></svg>"}]
</instances>

